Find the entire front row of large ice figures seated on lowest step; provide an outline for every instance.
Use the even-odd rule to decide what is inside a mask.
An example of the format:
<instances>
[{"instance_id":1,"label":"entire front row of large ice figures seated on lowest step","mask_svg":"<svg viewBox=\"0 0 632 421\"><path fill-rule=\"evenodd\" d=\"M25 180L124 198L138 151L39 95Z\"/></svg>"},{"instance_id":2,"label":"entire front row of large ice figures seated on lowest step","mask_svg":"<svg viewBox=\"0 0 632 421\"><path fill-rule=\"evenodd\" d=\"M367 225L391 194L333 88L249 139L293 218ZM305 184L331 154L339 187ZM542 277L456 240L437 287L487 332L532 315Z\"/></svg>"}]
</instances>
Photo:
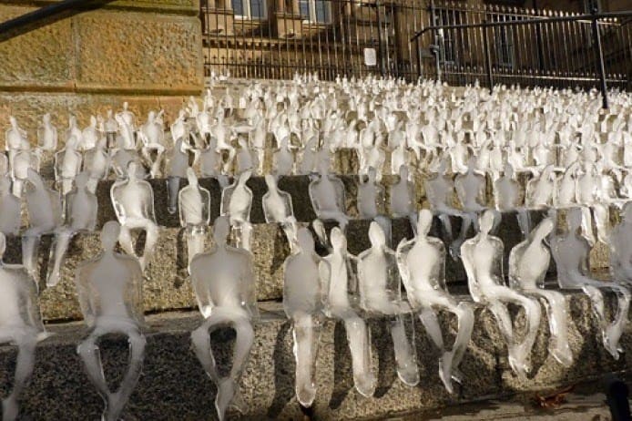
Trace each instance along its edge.
<instances>
[{"instance_id":1,"label":"entire front row of large ice figures seated on lowest step","mask_svg":"<svg viewBox=\"0 0 632 421\"><path fill-rule=\"evenodd\" d=\"M632 232L632 204L613 231L613 282L591 278L587 269L590 246L581 236L581 212L569 211L566 231L556 230L556 220L547 217L531 231L525 241L509 253L509 267L503 267L503 241L493 235L497 212L484 211L479 231L464 241L461 255L474 303L494 314L505 339L508 360L516 375L530 371L530 354L540 326L542 308L548 314L551 333L549 352L566 367L574 355L568 344L568 313L563 293L545 288L551 255L556 261L557 283L562 290L582 290L592 303L599 323L599 336L608 352L617 358L622 350L619 338L627 324L632 280L632 252L626 247ZM347 251L347 239L339 227L331 230L328 251L321 257L307 228L286 231L292 243L284 269L283 308L291 320L296 358L296 395L302 406L311 406L316 397L315 362L321 324L325 318L344 323L352 355L353 381L357 391L371 396L376 377L372 369L371 329L368 319L388 321L394 346L396 370L404 384L420 382L413 333L419 319L433 344L441 350L439 376L449 392L454 382L467 382L459 365L474 328L474 303L454 296L445 280L446 252L443 241L429 235L431 211L420 211L416 235L403 240L395 250L379 223L369 228L369 249L354 256ZM119 419L142 370L146 346L143 330L143 269L138 258L115 252L121 227L107 222L101 232L103 251L94 259L80 263L75 281L80 308L90 328L78 345L86 373L106 404L103 419ZM238 394L240 375L248 362L254 342L253 323L258 320L256 276L252 255L229 245L229 218L220 216L213 224L213 247L199 252L189 262L193 289L204 320L191 333L193 350L200 364L217 385L215 403L219 419ZM0 234L0 257L5 252L5 236ZM0 260L0 338L18 347L15 382L3 399L3 419L13 420L18 413L18 397L35 365L37 342L46 339L38 309L36 281L24 266ZM606 293L617 295L617 309L608 320L604 304ZM508 304L524 309L525 328L518 329ZM444 343L437 313L453 313L457 333L453 344ZM210 334L230 327L236 332L229 371L219 370L210 344ZM524 330L524 332L520 332ZM129 341L129 365L120 385L112 391L103 375L97 345L105 334L125 334ZM222 376L219 373L228 373Z\"/></svg>"}]
</instances>

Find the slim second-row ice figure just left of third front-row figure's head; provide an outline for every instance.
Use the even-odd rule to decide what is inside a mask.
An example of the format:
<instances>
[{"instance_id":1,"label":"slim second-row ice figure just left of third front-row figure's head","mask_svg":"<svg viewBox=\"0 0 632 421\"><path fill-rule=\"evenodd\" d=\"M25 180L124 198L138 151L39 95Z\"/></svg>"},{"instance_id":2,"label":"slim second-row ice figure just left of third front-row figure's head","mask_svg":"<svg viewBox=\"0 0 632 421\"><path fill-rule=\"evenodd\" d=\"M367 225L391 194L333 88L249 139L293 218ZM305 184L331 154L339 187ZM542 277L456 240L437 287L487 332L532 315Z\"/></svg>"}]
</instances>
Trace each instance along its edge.
<instances>
[{"instance_id":1,"label":"slim second-row ice figure just left of third front-row figure's head","mask_svg":"<svg viewBox=\"0 0 632 421\"><path fill-rule=\"evenodd\" d=\"M210 221L210 192L199 186L192 168L187 169L189 185L178 193L180 225L186 230L189 264L204 252L204 239Z\"/></svg>"}]
</instances>

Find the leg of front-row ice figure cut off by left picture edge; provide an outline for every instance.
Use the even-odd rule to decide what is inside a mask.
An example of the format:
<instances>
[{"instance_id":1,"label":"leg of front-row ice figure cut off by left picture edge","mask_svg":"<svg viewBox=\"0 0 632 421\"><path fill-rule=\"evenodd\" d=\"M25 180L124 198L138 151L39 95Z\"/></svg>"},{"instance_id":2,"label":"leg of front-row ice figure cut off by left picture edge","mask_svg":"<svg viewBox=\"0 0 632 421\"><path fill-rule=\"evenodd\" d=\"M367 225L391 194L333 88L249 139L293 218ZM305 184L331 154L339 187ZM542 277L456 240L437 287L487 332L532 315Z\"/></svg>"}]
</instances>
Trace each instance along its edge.
<instances>
[{"instance_id":1,"label":"leg of front-row ice figure cut off by left picture edge","mask_svg":"<svg viewBox=\"0 0 632 421\"><path fill-rule=\"evenodd\" d=\"M13 421L17 419L19 406L17 399L24 391L28 379L33 373L36 362L36 337L28 334L16 338L17 361L15 363L15 380L11 394L2 401L3 421Z\"/></svg>"}]
</instances>

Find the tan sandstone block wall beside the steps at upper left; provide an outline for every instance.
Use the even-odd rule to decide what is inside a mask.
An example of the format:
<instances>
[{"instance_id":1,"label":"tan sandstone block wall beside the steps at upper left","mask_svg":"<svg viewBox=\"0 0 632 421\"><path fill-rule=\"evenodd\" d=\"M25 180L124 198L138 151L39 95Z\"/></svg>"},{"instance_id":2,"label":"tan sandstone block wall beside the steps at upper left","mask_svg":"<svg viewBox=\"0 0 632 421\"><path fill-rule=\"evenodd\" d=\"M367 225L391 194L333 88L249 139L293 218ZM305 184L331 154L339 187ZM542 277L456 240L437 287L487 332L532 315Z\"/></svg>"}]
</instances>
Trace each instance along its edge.
<instances>
[{"instance_id":1,"label":"tan sandstone block wall beside the steps at upper left","mask_svg":"<svg viewBox=\"0 0 632 421\"><path fill-rule=\"evenodd\" d=\"M0 1L0 21L47 3ZM199 0L95 3L101 7L56 15L0 42L0 128L14 114L34 143L45 112L58 128L69 113L83 127L130 99L138 116L165 108L170 120L186 96L199 95Z\"/></svg>"}]
</instances>

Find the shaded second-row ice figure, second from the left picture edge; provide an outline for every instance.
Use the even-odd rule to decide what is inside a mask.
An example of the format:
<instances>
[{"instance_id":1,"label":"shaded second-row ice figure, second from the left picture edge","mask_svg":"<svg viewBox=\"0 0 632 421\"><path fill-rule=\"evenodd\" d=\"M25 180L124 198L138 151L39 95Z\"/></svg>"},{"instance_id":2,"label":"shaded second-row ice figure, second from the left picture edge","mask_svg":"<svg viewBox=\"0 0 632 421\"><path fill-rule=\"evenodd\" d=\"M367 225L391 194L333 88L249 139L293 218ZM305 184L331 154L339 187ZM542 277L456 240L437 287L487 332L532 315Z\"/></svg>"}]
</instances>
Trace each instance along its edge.
<instances>
[{"instance_id":1,"label":"shaded second-row ice figure, second from the left picture edge","mask_svg":"<svg viewBox=\"0 0 632 421\"><path fill-rule=\"evenodd\" d=\"M62 223L62 205L59 193L48 189L33 169L28 169L25 199L29 228L22 235L22 261L35 277L39 240Z\"/></svg>"}]
</instances>

